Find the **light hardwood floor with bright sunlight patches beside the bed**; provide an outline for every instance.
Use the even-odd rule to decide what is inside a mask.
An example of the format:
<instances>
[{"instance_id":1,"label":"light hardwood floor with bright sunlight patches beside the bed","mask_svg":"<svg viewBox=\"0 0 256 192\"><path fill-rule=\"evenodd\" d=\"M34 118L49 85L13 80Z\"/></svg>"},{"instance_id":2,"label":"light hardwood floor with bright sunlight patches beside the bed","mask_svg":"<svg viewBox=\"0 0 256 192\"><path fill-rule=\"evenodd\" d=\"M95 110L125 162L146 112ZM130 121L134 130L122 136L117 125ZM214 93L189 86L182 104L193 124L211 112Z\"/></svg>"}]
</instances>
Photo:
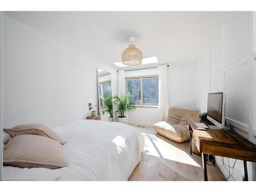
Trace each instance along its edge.
<instances>
[{"instance_id":1,"label":"light hardwood floor with bright sunlight patches beside the bed","mask_svg":"<svg viewBox=\"0 0 256 192\"><path fill-rule=\"evenodd\" d=\"M133 125L136 127L136 125ZM145 138L141 161L129 181L203 181L201 156L189 155L189 141L176 143L159 134L153 127L136 127ZM215 169L207 165L209 181L223 181Z\"/></svg>"}]
</instances>

